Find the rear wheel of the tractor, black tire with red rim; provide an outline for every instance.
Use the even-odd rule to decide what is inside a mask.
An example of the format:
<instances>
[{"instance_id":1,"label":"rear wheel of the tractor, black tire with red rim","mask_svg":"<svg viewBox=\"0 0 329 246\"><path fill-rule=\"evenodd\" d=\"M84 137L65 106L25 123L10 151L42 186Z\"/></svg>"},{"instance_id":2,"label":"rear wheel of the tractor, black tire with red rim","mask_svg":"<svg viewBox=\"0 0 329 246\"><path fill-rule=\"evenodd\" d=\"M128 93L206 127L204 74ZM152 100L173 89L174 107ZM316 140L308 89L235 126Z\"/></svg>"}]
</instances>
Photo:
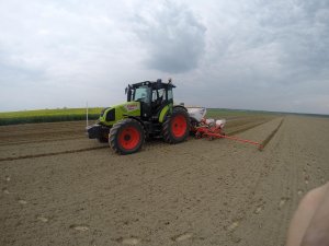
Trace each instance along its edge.
<instances>
[{"instance_id":1,"label":"rear wheel of the tractor, black tire with red rim","mask_svg":"<svg viewBox=\"0 0 329 246\"><path fill-rule=\"evenodd\" d=\"M180 143L190 134L190 116L182 107L174 107L172 114L167 117L162 125L162 136L168 143Z\"/></svg>"}]
</instances>

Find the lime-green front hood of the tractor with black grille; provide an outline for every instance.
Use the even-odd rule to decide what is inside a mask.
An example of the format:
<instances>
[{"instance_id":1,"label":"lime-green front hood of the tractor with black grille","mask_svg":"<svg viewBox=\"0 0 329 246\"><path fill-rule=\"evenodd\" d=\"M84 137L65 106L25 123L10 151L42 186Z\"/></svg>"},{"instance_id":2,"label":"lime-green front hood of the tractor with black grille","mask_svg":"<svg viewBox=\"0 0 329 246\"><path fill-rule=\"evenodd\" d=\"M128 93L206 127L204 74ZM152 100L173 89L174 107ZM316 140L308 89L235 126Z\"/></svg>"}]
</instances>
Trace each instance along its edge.
<instances>
[{"instance_id":1,"label":"lime-green front hood of the tractor with black grille","mask_svg":"<svg viewBox=\"0 0 329 246\"><path fill-rule=\"evenodd\" d=\"M111 127L118 120L128 116L140 116L139 102L127 102L124 104L118 104L112 107L104 108L101 113L99 121L104 126Z\"/></svg>"}]
</instances>

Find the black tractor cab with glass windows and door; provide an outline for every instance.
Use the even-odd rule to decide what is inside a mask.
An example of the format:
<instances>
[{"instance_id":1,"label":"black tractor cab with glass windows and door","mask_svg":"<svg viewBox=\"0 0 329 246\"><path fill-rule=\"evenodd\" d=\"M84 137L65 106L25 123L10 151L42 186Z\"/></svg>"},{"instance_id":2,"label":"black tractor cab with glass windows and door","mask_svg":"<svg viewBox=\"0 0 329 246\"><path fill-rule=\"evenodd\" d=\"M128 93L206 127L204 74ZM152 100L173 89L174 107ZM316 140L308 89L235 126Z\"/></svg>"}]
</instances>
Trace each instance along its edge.
<instances>
[{"instance_id":1,"label":"black tractor cab with glass windows and door","mask_svg":"<svg viewBox=\"0 0 329 246\"><path fill-rule=\"evenodd\" d=\"M171 80L163 83L160 79L157 82L144 81L129 84L126 87L127 102L140 103L140 117L144 120L158 120L161 110L173 104L172 89L175 87Z\"/></svg>"}]
</instances>

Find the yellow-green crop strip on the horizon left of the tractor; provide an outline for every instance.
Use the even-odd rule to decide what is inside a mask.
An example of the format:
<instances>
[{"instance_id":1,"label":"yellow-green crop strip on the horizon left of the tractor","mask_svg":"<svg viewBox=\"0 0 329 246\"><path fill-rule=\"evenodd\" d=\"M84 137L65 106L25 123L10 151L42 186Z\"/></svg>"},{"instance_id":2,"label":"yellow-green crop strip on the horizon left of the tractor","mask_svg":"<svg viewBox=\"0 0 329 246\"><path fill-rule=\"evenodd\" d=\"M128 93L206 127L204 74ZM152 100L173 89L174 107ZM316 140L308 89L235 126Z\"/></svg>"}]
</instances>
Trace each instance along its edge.
<instances>
[{"instance_id":1,"label":"yellow-green crop strip on the horizon left of the tractor","mask_svg":"<svg viewBox=\"0 0 329 246\"><path fill-rule=\"evenodd\" d=\"M89 108L89 118L97 119L102 108ZM86 108L39 109L0 113L0 126L32 122L84 120Z\"/></svg>"}]
</instances>

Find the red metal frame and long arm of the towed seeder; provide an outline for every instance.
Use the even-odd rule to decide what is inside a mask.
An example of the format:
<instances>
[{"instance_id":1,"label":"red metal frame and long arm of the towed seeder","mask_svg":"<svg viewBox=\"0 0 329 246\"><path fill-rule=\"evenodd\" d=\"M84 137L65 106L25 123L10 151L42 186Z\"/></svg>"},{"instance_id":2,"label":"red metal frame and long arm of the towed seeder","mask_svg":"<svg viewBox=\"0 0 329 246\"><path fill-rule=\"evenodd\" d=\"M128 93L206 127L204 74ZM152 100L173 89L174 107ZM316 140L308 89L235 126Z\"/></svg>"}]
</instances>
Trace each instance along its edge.
<instances>
[{"instance_id":1,"label":"red metal frame and long arm of the towed seeder","mask_svg":"<svg viewBox=\"0 0 329 246\"><path fill-rule=\"evenodd\" d=\"M195 138L201 139L201 138L208 138L209 140L213 139L230 139L230 140L236 140L239 142L243 142L243 143L250 143L253 145L257 145L259 150L263 149L263 145L259 142L256 141L251 141L251 140L246 140L246 139L240 139L238 137L230 137L230 136L226 136L224 132L222 132L222 128L218 126L200 126L200 127L195 127L193 129L193 131L195 132Z\"/></svg>"}]
</instances>

